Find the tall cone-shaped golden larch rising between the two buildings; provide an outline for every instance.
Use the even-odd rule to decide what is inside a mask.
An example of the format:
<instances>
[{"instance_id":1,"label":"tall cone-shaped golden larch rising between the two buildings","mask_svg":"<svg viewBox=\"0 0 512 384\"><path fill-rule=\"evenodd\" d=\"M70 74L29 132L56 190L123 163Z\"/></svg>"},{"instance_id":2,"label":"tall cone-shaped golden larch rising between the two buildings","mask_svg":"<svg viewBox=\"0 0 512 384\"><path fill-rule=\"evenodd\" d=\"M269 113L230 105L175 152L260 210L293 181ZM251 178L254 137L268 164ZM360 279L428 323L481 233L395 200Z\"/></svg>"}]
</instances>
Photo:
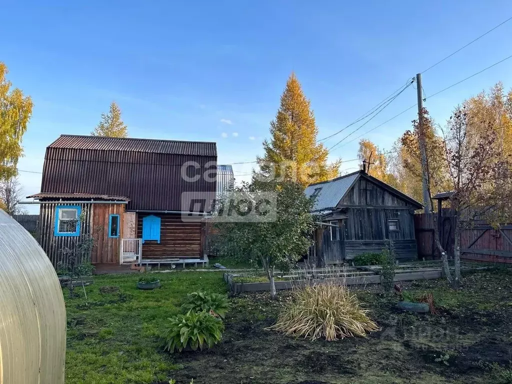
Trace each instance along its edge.
<instances>
[{"instance_id":1,"label":"tall cone-shaped golden larch rising between the two buildings","mask_svg":"<svg viewBox=\"0 0 512 384\"><path fill-rule=\"evenodd\" d=\"M297 181L303 186L338 176L341 160L328 164L329 152L317 143L318 127L300 82L294 73L286 82L281 105L270 123L270 140L263 142L265 155L258 157L263 176Z\"/></svg>"}]
</instances>

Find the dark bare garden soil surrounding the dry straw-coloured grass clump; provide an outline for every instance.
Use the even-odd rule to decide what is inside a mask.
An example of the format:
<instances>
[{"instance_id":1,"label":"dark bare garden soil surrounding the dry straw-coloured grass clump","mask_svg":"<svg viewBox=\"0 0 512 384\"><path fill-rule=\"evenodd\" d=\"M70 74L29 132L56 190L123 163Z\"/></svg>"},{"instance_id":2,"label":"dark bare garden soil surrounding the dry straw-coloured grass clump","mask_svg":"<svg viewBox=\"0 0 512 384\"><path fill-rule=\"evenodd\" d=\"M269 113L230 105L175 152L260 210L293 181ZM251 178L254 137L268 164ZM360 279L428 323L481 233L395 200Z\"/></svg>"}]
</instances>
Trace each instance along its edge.
<instances>
[{"instance_id":1,"label":"dark bare garden soil surrounding the dry straw-coloured grass clump","mask_svg":"<svg viewBox=\"0 0 512 384\"><path fill-rule=\"evenodd\" d=\"M266 292L233 297L223 341L201 353L173 356L183 369L170 374L179 384L191 378L198 384L508 383L502 373L512 360L510 270L465 276L459 291L442 280L402 287L432 292L438 314L403 312L380 287L359 289L382 329L337 342L265 330L289 292L275 301ZM440 357L446 364L436 361Z\"/></svg>"}]
</instances>

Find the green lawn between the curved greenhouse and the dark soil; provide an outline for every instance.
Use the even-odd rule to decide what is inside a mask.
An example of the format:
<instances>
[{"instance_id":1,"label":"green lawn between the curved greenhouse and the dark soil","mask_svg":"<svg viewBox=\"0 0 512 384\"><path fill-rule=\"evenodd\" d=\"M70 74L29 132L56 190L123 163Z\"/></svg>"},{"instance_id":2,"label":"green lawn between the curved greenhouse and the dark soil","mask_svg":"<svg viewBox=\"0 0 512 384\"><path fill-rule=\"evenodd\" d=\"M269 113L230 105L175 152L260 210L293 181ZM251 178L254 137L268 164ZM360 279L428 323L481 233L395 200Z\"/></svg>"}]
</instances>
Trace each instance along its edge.
<instances>
[{"instance_id":1,"label":"green lawn between the curved greenhouse and the dark soil","mask_svg":"<svg viewBox=\"0 0 512 384\"><path fill-rule=\"evenodd\" d=\"M95 276L80 297L64 290L68 313L67 384L150 383L168 380L181 368L162 353L156 336L169 315L178 313L183 297L195 290L225 292L220 272L158 273L162 287L136 288L140 275ZM118 287L100 293L100 287Z\"/></svg>"}]
</instances>

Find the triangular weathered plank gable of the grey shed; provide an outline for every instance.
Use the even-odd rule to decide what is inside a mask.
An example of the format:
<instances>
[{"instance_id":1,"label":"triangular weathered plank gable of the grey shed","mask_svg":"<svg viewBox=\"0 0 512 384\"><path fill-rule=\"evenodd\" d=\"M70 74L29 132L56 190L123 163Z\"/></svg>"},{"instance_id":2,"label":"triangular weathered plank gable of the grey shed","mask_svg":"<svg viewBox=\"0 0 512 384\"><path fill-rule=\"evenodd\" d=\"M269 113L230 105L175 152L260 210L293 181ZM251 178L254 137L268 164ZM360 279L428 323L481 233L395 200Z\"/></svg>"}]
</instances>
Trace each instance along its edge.
<instances>
[{"instance_id":1,"label":"triangular weathered plank gable of the grey shed","mask_svg":"<svg viewBox=\"0 0 512 384\"><path fill-rule=\"evenodd\" d=\"M406 200L391 194L388 190L364 177L360 177L355 182L337 206L412 207Z\"/></svg>"}]
</instances>

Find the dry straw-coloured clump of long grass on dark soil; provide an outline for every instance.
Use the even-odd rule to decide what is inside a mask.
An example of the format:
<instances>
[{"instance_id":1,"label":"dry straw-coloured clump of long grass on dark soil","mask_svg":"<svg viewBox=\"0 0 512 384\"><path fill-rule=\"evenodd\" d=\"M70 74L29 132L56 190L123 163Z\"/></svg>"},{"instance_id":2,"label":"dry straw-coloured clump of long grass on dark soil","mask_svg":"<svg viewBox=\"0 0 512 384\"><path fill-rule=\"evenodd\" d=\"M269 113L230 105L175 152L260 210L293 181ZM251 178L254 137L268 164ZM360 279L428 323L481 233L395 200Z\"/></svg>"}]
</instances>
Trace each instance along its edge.
<instances>
[{"instance_id":1,"label":"dry straw-coloured clump of long grass on dark soil","mask_svg":"<svg viewBox=\"0 0 512 384\"><path fill-rule=\"evenodd\" d=\"M330 341L365 337L367 332L377 331L379 327L345 284L322 282L295 288L292 300L280 313L278 322L269 329L296 337Z\"/></svg>"}]
</instances>

